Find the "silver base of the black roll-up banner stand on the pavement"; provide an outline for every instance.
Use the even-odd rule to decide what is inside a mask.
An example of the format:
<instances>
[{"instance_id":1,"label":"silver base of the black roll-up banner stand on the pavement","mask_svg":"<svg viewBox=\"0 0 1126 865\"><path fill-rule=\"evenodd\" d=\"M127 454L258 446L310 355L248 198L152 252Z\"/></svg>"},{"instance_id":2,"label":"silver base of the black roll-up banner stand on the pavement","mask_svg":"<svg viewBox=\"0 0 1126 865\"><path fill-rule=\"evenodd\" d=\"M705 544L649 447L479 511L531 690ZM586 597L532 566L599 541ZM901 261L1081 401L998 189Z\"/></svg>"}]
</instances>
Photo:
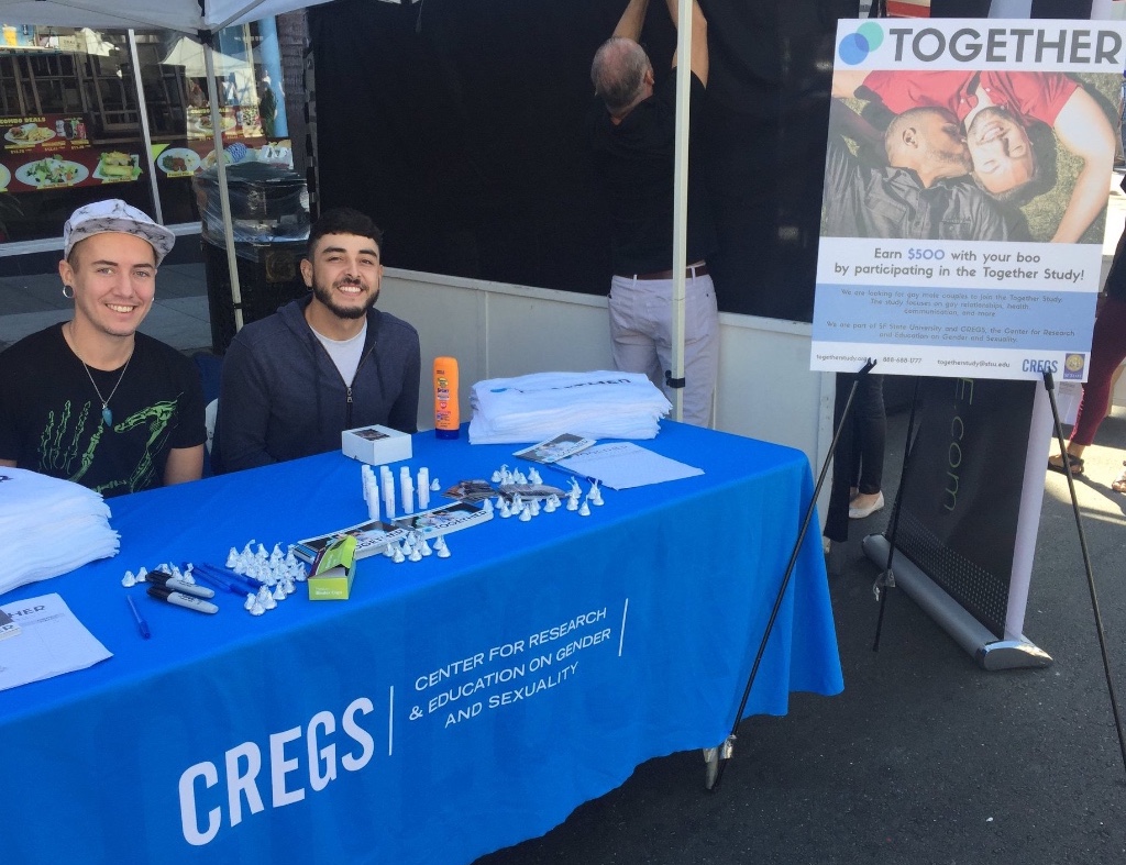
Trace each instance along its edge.
<instances>
[{"instance_id":1,"label":"silver base of the black roll-up banner stand on the pavement","mask_svg":"<svg viewBox=\"0 0 1126 865\"><path fill-rule=\"evenodd\" d=\"M888 543L883 534L869 534L860 546L877 567L887 564ZM1052 664L1052 656L1026 640L1024 634L1017 640L999 640L905 556L895 557L893 570L895 585L973 656L982 669L1047 667Z\"/></svg>"}]
</instances>

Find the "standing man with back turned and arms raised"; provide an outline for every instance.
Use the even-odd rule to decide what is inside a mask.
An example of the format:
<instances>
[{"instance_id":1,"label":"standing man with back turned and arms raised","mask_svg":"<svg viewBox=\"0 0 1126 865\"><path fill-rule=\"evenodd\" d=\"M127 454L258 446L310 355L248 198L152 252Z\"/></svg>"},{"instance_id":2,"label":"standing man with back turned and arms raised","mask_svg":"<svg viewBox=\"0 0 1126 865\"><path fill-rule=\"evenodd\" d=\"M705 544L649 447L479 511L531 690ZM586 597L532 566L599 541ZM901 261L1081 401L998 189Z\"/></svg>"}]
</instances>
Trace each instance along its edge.
<instances>
[{"instance_id":1,"label":"standing man with back turned and arms raised","mask_svg":"<svg viewBox=\"0 0 1126 865\"><path fill-rule=\"evenodd\" d=\"M667 3L676 24L677 0ZM658 85L649 56L637 44L647 7L649 0L629 0L614 36L595 54L590 78L601 105L596 108L591 143L610 211L614 362L620 370L646 373L671 397L665 372L672 368L676 75ZM720 364L720 323L706 262L715 246L715 231L694 155L699 152L698 129L708 74L707 21L696 0L689 69L692 166L685 274L683 420L705 426Z\"/></svg>"}]
</instances>

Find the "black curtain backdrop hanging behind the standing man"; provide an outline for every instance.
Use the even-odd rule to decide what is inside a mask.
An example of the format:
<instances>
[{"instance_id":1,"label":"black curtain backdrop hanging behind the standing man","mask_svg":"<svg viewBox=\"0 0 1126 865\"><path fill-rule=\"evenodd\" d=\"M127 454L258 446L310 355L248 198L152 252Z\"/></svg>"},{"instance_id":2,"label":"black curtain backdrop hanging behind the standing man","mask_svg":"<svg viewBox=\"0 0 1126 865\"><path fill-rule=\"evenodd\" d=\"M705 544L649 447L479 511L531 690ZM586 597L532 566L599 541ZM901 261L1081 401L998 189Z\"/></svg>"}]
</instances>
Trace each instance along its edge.
<instances>
[{"instance_id":1,"label":"black curtain backdrop hanging behind the standing man","mask_svg":"<svg viewBox=\"0 0 1126 865\"><path fill-rule=\"evenodd\" d=\"M932 11L975 2L988 9L988 0L933 0ZM1090 9L1090 0L1036 2L1079 17ZM858 0L701 6L712 54L701 182L718 229L709 264L720 308L808 322L833 37ZM370 214L386 233L388 265L606 294L609 236L587 141L590 61L624 8L312 7L321 207ZM651 0L642 39L668 74L676 33L663 0Z\"/></svg>"}]
</instances>

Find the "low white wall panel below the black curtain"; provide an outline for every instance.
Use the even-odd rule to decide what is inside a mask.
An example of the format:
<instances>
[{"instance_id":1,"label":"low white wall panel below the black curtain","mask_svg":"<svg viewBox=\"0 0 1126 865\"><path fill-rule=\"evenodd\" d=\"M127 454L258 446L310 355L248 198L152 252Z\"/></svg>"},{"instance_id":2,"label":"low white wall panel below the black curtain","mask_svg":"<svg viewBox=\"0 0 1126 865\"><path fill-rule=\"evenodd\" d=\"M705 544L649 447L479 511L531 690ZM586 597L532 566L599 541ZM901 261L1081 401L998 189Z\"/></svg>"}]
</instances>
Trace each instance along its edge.
<instances>
[{"instance_id":1,"label":"low white wall panel below the black curtain","mask_svg":"<svg viewBox=\"0 0 1126 865\"><path fill-rule=\"evenodd\" d=\"M388 269L379 306L419 331L423 430L434 427L430 363L439 354L458 360L463 421L470 386L483 378L613 369L605 297ZM720 331L716 429L788 444L820 466L833 377L810 371L810 325L723 313Z\"/></svg>"}]
</instances>

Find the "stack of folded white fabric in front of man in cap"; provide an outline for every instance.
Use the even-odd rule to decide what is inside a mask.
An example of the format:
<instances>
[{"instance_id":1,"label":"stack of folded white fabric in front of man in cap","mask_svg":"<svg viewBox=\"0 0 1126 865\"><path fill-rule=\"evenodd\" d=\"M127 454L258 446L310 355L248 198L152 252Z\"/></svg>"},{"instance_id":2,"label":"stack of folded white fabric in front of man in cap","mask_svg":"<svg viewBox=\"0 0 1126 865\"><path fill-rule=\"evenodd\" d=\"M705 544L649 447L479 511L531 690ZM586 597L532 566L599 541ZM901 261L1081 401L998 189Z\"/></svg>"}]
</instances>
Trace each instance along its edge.
<instances>
[{"instance_id":1,"label":"stack of folded white fabric in front of man in cap","mask_svg":"<svg viewBox=\"0 0 1126 865\"><path fill-rule=\"evenodd\" d=\"M118 535L98 493L25 469L0 469L0 594L113 556Z\"/></svg>"}]
</instances>

